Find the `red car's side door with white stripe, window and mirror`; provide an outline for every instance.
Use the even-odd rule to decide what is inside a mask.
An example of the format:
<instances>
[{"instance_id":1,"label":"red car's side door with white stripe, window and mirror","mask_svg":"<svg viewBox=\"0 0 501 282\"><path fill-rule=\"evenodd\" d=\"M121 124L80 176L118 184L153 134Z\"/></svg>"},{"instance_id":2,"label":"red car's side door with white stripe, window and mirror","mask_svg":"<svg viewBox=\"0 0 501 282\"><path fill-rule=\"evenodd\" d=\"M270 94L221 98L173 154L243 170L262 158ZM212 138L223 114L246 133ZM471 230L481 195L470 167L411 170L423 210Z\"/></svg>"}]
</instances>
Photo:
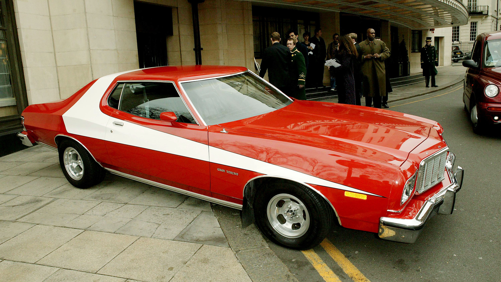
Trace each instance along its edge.
<instances>
[{"instance_id":1,"label":"red car's side door with white stripe, window and mirror","mask_svg":"<svg viewBox=\"0 0 501 282\"><path fill-rule=\"evenodd\" d=\"M210 196L207 127L198 125L173 82L121 82L108 106L110 169ZM161 112L177 120L160 120Z\"/></svg>"}]
</instances>

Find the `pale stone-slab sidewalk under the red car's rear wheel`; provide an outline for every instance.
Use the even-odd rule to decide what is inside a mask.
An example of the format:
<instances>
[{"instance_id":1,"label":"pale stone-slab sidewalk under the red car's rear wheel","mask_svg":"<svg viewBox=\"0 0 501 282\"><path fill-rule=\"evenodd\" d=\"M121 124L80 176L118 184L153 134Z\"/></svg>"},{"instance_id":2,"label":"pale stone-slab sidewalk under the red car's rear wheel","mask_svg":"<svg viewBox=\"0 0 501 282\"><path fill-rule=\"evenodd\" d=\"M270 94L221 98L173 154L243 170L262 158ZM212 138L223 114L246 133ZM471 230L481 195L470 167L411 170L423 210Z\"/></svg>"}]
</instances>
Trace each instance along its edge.
<instances>
[{"instance_id":1,"label":"pale stone-slab sidewalk under the red car's rear wheel","mask_svg":"<svg viewBox=\"0 0 501 282\"><path fill-rule=\"evenodd\" d=\"M1 282L201 280L251 281L209 202L111 174L78 189L41 146L0 158Z\"/></svg>"}]
</instances>

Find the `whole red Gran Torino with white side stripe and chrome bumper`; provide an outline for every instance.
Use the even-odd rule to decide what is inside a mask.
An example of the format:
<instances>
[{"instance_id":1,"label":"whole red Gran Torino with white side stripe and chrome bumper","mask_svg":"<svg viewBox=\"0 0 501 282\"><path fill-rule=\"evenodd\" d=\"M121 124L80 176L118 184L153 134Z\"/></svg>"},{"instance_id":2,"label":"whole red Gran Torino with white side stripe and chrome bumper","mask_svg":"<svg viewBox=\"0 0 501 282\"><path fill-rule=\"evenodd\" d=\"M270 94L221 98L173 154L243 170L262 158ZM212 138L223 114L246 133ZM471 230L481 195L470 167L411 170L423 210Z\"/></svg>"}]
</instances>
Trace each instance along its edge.
<instances>
[{"instance_id":1,"label":"whole red Gran Torino with white side stripe and chrome bumper","mask_svg":"<svg viewBox=\"0 0 501 282\"><path fill-rule=\"evenodd\" d=\"M294 100L243 67L107 75L23 117L23 143L58 150L75 187L108 171L241 209L242 226L296 249L335 222L412 243L452 213L463 176L435 121Z\"/></svg>"}]
</instances>

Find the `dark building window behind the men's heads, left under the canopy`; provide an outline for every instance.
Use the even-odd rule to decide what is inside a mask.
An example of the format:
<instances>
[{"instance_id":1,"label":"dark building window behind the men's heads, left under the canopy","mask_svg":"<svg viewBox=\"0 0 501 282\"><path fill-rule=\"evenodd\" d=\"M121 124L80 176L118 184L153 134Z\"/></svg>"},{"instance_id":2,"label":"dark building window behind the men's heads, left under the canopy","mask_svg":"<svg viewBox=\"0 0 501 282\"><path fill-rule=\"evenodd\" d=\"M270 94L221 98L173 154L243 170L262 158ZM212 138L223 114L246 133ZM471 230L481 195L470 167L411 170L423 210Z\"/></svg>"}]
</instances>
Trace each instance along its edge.
<instances>
[{"instance_id":1,"label":"dark building window behind the men's heads, left under the canopy","mask_svg":"<svg viewBox=\"0 0 501 282\"><path fill-rule=\"evenodd\" d=\"M308 31L314 36L313 33L320 22L320 14L304 11L253 6L252 14L256 59L261 59L262 52L271 45L272 32L280 33L281 43L285 45L289 37L286 33L292 29L298 32L299 42L303 42L303 33ZM325 35L324 38L326 38Z\"/></svg>"}]
</instances>

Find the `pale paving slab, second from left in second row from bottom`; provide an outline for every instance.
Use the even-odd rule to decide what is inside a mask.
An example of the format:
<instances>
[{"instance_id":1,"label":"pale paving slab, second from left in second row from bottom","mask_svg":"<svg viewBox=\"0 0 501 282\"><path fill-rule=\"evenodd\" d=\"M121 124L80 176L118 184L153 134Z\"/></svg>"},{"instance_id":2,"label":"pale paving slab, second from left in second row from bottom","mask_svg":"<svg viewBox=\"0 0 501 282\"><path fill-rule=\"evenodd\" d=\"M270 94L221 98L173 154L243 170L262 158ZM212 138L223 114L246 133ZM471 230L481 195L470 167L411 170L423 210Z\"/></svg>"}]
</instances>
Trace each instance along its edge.
<instances>
[{"instance_id":1,"label":"pale paving slab, second from left in second row from bottom","mask_svg":"<svg viewBox=\"0 0 501 282\"><path fill-rule=\"evenodd\" d=\"M137 239L130 235L84 231L37 263L95 273Z\"/></svg>"}]
</instances>

